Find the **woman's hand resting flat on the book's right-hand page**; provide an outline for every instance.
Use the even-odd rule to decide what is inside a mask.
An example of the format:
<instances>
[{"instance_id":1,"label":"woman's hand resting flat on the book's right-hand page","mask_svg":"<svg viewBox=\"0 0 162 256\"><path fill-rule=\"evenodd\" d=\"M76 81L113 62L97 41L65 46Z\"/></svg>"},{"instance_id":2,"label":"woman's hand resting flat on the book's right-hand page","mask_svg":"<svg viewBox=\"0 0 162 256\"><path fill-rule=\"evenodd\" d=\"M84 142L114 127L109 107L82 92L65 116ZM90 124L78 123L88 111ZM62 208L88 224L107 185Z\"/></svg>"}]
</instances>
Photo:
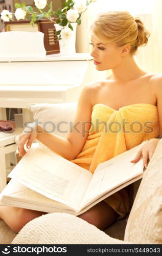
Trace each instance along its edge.
<instances>
[{"instance_id":1,"label":"woman's hand resting flat on the book's right-hand page","mask_svg":"<svg viewBox=\"0 0 162 256\"><path fill-rule=\"evenodd\" d=\"M157 143L159 142L160 139L150 139L147 141L142 148L137 152L135 158L131 160L131 163L136 163L139 161L141 158L143 158L143 164L145 167L147 167L148 160L151 159L151 157L154 154L155 148L157 146Z\"/></svg>"}]
</instances>

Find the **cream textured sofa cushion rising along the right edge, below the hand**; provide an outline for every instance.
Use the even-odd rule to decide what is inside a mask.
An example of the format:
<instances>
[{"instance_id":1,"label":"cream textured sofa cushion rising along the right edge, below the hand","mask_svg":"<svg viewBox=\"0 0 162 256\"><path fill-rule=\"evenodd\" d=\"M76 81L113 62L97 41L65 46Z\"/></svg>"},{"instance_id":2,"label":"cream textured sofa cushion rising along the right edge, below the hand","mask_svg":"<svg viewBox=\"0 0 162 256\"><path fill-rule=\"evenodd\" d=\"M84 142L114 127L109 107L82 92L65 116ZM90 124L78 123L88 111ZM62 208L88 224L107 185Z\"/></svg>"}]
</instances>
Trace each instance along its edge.
<instances>
[{"instance_id":1,"label":"cream textured sofa cushion rising along the right edge, below the hand","mask_svg":"<svg viewBox=\"0 0 162 256\"><path fill-rule=\"evenodd\" d=\"M138 189L124 240L135 244L162 244L162 139Z\"/></svg>"}]
</instances>

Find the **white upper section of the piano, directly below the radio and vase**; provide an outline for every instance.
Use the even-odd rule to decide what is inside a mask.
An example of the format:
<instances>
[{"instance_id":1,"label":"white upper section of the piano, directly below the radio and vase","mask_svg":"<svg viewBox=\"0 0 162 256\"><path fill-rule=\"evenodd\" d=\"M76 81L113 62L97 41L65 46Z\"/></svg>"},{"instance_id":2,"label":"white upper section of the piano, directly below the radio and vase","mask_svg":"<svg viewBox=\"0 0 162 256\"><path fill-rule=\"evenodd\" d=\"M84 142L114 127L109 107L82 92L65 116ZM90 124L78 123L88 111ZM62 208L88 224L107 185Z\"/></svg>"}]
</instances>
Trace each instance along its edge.
<instances>
[{"instance_id":1,"label":"white upper section of the piano, directly below the radio and vase","mask_svg":"<svg viewBox=\"0 0 162 256\"><path fill-rule=\"evenodd\" d=\"M47 55L45 58L0 58L1 86L76 86L82 83L90 54ZM94 67L95 69L95 67Z\"/></svg>"}]
</instances>

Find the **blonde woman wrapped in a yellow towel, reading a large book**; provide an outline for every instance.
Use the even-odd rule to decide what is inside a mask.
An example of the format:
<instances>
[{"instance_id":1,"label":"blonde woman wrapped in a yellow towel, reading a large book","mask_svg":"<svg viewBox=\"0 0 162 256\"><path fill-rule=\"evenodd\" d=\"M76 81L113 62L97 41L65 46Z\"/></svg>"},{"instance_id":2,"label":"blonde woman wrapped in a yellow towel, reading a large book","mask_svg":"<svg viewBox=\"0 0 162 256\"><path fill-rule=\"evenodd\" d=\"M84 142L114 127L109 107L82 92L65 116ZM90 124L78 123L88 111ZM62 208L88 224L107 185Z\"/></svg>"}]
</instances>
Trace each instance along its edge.
<instances>
[{"instance_id":1,"label":"blonde woman wrapped in a yellow towel, reading a large book","mask_svg":"<svg viewBox=\"0 0 162 256\"><path fill-rule=\"evenodd\" d=\"M25 129L20 136L19 154L24 156L24 144L28 141L27 147L30 148L37 138L52 151L93 172L99 162L149 140L131 161L137 162L142 157L146 167L159 141L159 124L162 127L161 75L141 70L133 59L138 46L147 44L148 36L141 20L135 19L128 12L101 14L91 27L91 56L97 70L111 69L112 74L102 81L87 84L82 90L74 120L74 126L79 123L77 130L74 129L66 138L62 138L45 133L41 126L35 127L35 123L32 123L33 132L28 133ZM148 121L152 125L148 130L152 132L141 130L136 133L136 130L132 131L132 123L128 125L131 128L128 133L124 130L118 133L104 132L102 124L91 129L91 123L97 119L102 123L111 120L113 124L119 120L119 124L123 125L123 117L126 117L127 123L131 118L133 125L134 122L145 125ZM105 141L106 146L102 150ZM123 218L129 208L129 191L125 188L78 217L104 230L118 218ZM0 207L0 217L15 232L42 214L45 212Z\"/></svg>"}]
</instances>

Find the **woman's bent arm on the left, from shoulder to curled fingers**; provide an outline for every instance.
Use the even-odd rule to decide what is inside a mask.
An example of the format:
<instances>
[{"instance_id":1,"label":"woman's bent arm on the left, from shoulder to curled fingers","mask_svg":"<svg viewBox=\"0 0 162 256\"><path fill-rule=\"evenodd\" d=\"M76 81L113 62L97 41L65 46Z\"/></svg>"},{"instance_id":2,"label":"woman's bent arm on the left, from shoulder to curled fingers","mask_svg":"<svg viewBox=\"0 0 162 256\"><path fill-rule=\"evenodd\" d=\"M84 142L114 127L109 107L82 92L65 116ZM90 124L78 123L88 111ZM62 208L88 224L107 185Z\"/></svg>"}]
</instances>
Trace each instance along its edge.
<instances>
[{"instance_id":1,"label":"woman's bent arm on the left, from shoulder to curled fingers","mask_svg":"<svg viewBox=\"0 0 162 256\"><path fill-rule=\"evenodd\" d=\"M91 111L92 111L92 88L91 84L85 86L82 90L78 101L77 113L73 122L73 131L70 132L66 138L50 134L38 125L35 127L35 123L25 129L20 135L18 143L18 151L21 156L26 154L24 145L27 142L27 147L30 148L34 139L38 139L50 150L61 155L62 157L72 160L82 150L88 136L88 130L91 125Z\"/></svg>"}]
</instances>

